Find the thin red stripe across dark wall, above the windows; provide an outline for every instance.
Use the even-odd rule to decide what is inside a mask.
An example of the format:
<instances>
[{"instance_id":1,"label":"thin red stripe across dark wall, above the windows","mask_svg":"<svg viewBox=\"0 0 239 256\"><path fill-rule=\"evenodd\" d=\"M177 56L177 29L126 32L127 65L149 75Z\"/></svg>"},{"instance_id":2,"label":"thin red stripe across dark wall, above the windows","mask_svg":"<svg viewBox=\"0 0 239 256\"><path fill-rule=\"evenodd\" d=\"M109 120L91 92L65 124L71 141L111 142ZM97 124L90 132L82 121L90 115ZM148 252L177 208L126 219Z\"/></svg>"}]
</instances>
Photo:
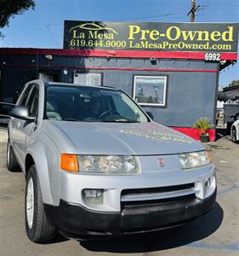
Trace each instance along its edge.
<instances>
[{"instance_id":1,"label":"thin red stripe across dark wall, above the windows","mask_svg":"<svg viewBox=\"0 0 239 256\"><path fill-rule=\"evenodd\" d=\"M70 69L94 69L94 70L124 70L124 71L164 71L164 72L204 72L204 73L217 73L217 69L193 69L193 68L145 68L145 67L84 67L84 66L53 66L48 65L14 65L5 64L0 67L34 67L34 68L70 68Z\"/></svg>"}]
</instances>

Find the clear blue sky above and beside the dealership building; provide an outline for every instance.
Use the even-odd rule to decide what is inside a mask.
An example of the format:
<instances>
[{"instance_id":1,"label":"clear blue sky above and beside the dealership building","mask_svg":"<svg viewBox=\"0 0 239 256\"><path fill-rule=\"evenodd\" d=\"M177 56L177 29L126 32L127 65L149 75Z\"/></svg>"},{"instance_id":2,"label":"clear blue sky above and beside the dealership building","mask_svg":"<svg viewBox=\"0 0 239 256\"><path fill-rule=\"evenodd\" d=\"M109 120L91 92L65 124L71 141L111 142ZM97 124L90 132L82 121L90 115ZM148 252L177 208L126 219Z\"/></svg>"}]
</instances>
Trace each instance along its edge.
<instances>
[{"instance_id":1,"label":"clear blue sky above and beside the dealership building","mask_svg":"<svg viewBox=\"0 0 239 256\"><path fill-rule=\"evenodd\" d=\"M63 48L64 20L188 22L191 0L37 0L0 30L0 47ZM239 22L239 0L196 0L196 22ZM219 86L239 79L239 64L219 74Z\"/></svg>"}]
</instances>

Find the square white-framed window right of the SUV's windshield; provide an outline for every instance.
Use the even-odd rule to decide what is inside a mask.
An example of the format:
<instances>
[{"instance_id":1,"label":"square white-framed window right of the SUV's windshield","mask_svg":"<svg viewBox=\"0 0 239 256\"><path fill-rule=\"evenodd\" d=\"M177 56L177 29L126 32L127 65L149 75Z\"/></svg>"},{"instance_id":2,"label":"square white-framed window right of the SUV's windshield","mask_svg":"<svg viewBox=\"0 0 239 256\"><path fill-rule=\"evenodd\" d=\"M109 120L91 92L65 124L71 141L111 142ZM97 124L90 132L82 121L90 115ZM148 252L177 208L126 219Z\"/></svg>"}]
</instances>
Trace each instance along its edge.
<instances>
[{"instance_id":1,"label":"square white-framed window right of the SUV's windshield","mask_svg":"<svg viewBox=\"0 0 239 256\"><path fill-rule=\"evenodd\" d=\"M167 76L134 76L133 97L141 106L166 107Z\"/></svg>"}]
</instances>

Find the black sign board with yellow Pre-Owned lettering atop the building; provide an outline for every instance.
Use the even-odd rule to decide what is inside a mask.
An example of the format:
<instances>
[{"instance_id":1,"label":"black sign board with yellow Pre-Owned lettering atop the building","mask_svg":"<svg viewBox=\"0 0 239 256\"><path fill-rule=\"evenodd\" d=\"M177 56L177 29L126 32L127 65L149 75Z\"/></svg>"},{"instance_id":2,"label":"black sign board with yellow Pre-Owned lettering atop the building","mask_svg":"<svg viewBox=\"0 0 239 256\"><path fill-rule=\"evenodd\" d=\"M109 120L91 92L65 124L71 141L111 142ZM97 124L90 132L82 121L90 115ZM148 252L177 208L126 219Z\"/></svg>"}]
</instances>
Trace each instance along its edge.
<instances>
[{"instance_id":1,"label":"black sign board with yellow Pre-Owned lettering atop the building","mask_svg":"<svg viewBox=\"0 0 239 256\"><path fill-rule=\"evenodd\" d=\"M65 20L65 49L237 52L236 23L101 22Z\"/></svg>"}]
</instances>

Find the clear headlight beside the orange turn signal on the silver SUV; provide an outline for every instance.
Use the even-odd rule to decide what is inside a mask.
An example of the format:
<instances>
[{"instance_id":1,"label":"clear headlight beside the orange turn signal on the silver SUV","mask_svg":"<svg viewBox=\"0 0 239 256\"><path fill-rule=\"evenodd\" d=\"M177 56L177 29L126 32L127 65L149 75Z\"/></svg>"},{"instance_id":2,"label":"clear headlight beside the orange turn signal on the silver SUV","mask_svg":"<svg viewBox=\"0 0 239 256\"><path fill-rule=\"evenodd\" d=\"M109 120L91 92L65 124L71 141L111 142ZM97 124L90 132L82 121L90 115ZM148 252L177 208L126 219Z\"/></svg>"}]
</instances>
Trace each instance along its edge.
<instances>
[{"instance_id":1,"label":"clear headlight beside the orange turn signal on the silver SUV","mask_svg":"<svg viewBox=\"0 0 239 256\"><path fill-rule=\"evenodd\" d=\"M139 163L132 155L78 155L83 174L131 174L139 172Z\"/></svg>"}]
</instances>

